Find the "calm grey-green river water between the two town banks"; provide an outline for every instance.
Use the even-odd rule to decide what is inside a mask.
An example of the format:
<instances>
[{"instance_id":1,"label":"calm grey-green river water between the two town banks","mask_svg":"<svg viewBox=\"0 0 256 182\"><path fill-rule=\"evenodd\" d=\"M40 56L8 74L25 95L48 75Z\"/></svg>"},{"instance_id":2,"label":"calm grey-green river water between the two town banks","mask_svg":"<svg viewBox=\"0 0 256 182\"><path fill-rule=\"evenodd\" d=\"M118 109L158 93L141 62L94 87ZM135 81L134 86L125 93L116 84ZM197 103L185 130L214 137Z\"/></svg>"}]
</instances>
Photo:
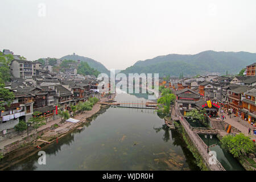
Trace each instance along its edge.
<instances>
[{"instance_id":1,"label":"calm grey-green river water between the two town banks","mask_svg":"<svg viewBox=\"0 0 256 182\"><path fill-rule=\"evenodd\" d=\"M122 93L115 100L145 102L143 97ZM38 164L36 153L6 170L200 170L181 135L156 110L108 106L89 121L44 148L46 165Z\"/></svg>"}]
</instances>

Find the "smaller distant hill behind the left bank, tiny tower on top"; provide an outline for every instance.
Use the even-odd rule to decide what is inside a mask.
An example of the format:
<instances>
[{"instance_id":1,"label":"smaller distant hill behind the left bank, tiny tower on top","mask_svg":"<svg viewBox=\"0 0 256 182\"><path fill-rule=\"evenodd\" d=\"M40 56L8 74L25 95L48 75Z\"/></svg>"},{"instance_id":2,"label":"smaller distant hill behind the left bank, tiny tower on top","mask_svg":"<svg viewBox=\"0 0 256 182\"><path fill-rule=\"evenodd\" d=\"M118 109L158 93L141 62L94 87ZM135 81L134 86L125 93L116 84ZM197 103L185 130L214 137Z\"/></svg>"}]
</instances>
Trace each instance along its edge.
<instances>
[{"instance_id":1,"label":"smaller distant hill behind the left bank, tiny tower on top","mask_svg":"<svg viewBox=\"0 0 256 182\"><path fill-rule=\"evenodd\" d=\"M88 65L90 67L97 69L97 71L110 75L109 70L106 69L106 67L103 64L101 64L100 62L98 62L96 60L90 59L89 57L84 57L84 56L79 56L79 55L67 55L67 56L61 57L60 59L61 60L84 61L84 62L88 63Z\"/></svg>"}]
</instances>

